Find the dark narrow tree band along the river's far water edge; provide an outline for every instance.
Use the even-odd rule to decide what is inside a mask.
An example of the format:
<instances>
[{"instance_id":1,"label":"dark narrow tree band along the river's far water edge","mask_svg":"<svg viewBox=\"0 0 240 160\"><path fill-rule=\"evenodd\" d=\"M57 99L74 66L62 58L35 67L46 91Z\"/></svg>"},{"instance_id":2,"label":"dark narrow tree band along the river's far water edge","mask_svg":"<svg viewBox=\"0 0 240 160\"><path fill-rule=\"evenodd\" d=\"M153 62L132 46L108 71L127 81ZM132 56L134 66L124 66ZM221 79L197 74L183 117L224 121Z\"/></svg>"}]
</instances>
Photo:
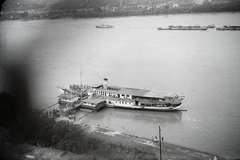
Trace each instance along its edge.
<instances>
[{"instance_id":1,"label":"dark narrow tree band along the river's far water edge","mask_svg":"<svg viewBox=\"0 0 240 160\"><path fill-rule=\"evenodd\" d=\"M139 16L161 16L161 15L176 15L176 14L216 14L216 13L229 13L229 12L240 12L240 8L232 10L227 9L215 9L215 10L205 10L201 8L200 10L182 8L180 11L176 9L172 10L161 10L159 13L146 10L144 14L132 13L129 11L122 12L88 12L81 11L76 12L75 10L58 10L58 11L42 11L40 13L34 13L30 11L4 11L1 13L0 21L8 20L22 20L22 21L32 21L32 20L54 20L54 19L89 19L89 18L121 18L121 17L139 17ZM67 13L67 14L66 14Z\"/></svg>"}]
</instances>

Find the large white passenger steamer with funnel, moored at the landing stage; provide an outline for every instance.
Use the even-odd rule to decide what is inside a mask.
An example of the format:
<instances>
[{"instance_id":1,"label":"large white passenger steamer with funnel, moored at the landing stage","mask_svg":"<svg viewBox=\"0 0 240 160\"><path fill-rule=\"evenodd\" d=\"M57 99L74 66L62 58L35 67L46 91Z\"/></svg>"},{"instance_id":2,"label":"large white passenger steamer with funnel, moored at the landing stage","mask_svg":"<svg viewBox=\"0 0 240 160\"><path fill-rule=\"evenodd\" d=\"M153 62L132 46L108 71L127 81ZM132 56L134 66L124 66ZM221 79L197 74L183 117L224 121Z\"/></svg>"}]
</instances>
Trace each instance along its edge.
<instances>
[{"instance_id":1,"label":"large white passenger steamer with funnel, moored at the landing stage","mask_svg":"<svg viewBox=\"0 0 240 160\"><path fill-rule=\"evenodd\" d=\"M107 78L103 84L91 88L89 98L103 99L107 107L172 111L178 110L184 99L184 96L166 92L108 86Z\"/></svg>"}]
</instances>

